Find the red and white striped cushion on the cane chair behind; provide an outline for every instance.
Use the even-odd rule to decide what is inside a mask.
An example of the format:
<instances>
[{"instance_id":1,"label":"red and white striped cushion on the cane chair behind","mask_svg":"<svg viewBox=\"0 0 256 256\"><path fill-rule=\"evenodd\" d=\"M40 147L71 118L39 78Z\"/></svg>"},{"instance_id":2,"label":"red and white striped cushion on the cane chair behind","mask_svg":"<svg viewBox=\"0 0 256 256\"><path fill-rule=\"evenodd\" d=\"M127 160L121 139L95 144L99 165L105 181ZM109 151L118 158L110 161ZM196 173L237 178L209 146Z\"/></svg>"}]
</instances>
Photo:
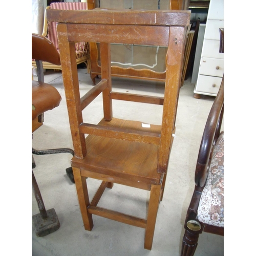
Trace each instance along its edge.
<instances>
[{"instance_id":1,"label":"red and white striped cushion on the cane chair behind","mask_svg":"<svg viewBox=\"0 0 256 256\"><path fill-rule=\"evenodd\" d=\"M58 3L51 3L51 9L55 10L88 10L87 3L84 2L58 2ZM48 23L48 39L53 42L54 46L59 49L58 47L58 37L57 37L57 23L56 22L49 22ZM81 48L76 46L77 48Z\"/></svg>"}]
</instances>

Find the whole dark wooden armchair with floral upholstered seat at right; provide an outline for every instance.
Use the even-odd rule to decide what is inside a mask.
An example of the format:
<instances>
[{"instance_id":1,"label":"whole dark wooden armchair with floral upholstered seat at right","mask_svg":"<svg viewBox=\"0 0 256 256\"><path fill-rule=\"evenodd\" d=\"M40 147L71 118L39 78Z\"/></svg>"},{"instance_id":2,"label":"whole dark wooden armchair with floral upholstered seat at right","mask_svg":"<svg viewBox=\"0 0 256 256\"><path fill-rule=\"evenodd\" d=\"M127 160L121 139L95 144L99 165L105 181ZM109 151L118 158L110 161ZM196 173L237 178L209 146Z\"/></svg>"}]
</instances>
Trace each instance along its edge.
<instances>
[{"instance_id":1,"label":"whole dark wooden armchair with floral upholstered seat at right","mask_svg":"<svg viewBox=\"0 0 256 256\"><path fill-rule=\"evenodd\" d=\"M224 29L220 29L224 52ZM195 189L188 206L181 256L193 256L204 231L224 234L224 77L206 121L195 172Z\"/></svg>"}]
</instances>

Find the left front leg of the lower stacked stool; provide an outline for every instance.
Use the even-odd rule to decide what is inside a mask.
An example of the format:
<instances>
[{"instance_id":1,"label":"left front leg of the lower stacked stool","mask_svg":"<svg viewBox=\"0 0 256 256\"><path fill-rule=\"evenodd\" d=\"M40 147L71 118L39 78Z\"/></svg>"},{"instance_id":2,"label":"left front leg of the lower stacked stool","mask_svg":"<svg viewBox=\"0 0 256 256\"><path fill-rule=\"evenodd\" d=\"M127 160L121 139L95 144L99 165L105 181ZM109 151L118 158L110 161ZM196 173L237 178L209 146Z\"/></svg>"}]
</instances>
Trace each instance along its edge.
<instances>
[{"instance_id":1,"label":"left front leg of the lower stacked stool","mask_svg":"<svg viewBox=\"0 0 256 256\"><path fill-rule=\"evenodd\" d=\"M92 218L92 215L89 214L89 212L87 211L87 207L89 206L90 201L88 196L86 177L80 176L79 168L76 168L76 167L72 167L72 168L73 168L73 174L74 174L84 229L91 231L93 228L93 218Z\"/></svg>"}]
</instances>

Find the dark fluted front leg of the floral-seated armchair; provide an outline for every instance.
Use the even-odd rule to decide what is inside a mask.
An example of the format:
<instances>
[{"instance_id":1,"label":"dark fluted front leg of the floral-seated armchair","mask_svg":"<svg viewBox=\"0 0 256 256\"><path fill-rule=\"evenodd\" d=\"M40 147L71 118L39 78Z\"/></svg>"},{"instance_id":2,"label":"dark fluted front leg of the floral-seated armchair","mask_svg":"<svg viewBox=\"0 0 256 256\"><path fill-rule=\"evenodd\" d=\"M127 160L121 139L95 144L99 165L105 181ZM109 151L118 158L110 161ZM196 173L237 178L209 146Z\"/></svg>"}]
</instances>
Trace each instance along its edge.
<instances>
[{"instance_id":1,"label":"dark fluted front leg of the floral-seated armchair","mask_svg":"<svg viewBox=\"0 0 256 256\"><path fill-rule=\"evenodd\" d=\"M182 241L182 249L181 256L193 256L199 239L199 233L194 231L185 230L183 241Z\"/></svg>"}]
</instances>

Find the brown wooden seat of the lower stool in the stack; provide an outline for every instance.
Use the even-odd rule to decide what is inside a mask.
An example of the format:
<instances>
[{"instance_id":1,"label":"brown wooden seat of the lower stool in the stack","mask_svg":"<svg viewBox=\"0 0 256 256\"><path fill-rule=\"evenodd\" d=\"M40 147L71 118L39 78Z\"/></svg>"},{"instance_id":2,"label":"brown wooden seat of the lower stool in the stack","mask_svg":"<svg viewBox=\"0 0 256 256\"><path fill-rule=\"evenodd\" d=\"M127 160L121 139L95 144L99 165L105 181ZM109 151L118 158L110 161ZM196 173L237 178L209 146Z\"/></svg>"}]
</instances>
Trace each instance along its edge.
<instances>
[{"instance_id":1,"label":"brown wooden seat of the lower stool in the stack","mask_svg":"<svg viewBox=\"0 0 256 256\"><path fill-rule=\"evenodd\" d=\"M102 126L122 127L123 131L135 130L160 133L159 125L150 128L141 126L141 122L113 118L112 121L101 120ZM87 155L83 159L72 159L72 166L114 177L134 180L135 182L160 184L162 175L156 172L158 148L154 144L132 142L102 136L86 137Z\"/></svg>"}]
</instances>

